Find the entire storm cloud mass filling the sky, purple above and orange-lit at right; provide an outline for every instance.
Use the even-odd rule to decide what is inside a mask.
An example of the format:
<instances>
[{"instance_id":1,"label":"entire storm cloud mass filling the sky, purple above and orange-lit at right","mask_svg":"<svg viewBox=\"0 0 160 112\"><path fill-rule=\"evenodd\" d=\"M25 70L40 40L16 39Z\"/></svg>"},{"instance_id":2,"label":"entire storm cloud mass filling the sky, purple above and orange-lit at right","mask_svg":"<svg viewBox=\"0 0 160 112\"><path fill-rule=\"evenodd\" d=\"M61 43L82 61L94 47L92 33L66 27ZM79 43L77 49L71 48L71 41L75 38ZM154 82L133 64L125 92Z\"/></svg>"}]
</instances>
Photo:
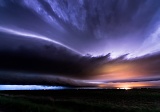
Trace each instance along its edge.
<instances>
[{"instance_id":1,"label":"entire storm cloud mass filling the sky, purple above and orange-lit at right","mask_svg":"<svg viewBox=\"0 0 160 112\"><path fill-rule=\"evenodd\" d=\"M159 0L0 0L0 83L159 81L159 35Z\"/></svg>"}]
</instances>

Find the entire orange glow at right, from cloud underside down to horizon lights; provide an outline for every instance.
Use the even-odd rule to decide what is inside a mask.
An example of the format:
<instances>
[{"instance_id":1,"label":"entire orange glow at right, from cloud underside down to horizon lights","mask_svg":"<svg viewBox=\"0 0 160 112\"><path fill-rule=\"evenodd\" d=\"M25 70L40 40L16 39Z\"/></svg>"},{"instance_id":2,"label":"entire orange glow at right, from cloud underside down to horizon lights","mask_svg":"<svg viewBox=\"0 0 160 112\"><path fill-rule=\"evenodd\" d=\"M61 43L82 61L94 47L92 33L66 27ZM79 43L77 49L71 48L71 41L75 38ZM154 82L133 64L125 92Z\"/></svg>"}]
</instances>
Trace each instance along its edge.
<instances>
[{"instance_id":1,"label":"entire orange glow at right, from cloud underside down to horizon lights","mask_svg":"<svg viewBox=\"0 0 160 112\"><path fill-rule=\"evenodd\" d=\"M160 87L160 81L145 81L160 77L159 69L150 67L149 63L145 60L111 61L89 70L88 73L91 74L93 80L102 81L101 84L97 85L103 88Z\"/></svg>"}]
</instances>

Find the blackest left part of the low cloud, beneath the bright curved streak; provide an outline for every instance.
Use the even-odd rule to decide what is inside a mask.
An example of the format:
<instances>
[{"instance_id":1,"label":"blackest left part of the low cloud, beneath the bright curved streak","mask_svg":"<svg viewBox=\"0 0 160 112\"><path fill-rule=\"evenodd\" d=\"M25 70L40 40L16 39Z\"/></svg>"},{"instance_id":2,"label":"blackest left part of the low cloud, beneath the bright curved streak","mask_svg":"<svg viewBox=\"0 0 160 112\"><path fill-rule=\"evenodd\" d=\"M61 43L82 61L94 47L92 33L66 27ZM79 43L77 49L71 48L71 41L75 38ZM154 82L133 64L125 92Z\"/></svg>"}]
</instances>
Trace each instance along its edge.
<instances>
[{"instance_id":1,"label":"blackest left part of the low cloud, beneath the bright curved streak","mask_svg":"<svg viewBox=\"0 0 160 112\"><path fill-rule=\"evenodd\" d=\"M7 44L1 45L3 47L0 50L1 70L58 73L70 76L82 74L83 66L77 62L82 56L63 46L50 42L42 43L36 39L21 41L21 38L25 37L1 34L3 34L1 40ZM15 41L19 45L14 43Z\"/></svg>"}]
</instances>

